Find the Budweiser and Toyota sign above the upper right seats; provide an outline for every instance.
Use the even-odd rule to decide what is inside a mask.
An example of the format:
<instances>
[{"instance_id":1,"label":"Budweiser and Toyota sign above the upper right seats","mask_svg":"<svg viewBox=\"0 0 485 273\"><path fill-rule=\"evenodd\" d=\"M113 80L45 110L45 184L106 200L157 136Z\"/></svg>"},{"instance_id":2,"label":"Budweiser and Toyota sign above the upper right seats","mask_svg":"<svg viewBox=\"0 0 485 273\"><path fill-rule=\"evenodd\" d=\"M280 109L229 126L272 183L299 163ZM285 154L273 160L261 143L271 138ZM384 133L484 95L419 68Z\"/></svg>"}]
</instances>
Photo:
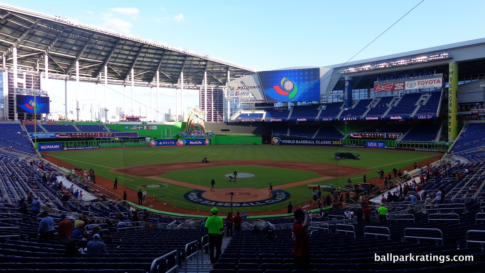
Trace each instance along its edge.
<instances>
[{"instance_id":1,"label":"Budweiser and Toyota sign above the upper right seats","mask_svg":"<svg viewBox=\"0 0 485 273\"><path fill-rule=\"evenodd\" d=\"M374 82L374 93L388 91L404 91L421 88L436 88L443 86L443 74L436 74L430 77L409 79L391 82Z\"/></svg>"}]
</instances>

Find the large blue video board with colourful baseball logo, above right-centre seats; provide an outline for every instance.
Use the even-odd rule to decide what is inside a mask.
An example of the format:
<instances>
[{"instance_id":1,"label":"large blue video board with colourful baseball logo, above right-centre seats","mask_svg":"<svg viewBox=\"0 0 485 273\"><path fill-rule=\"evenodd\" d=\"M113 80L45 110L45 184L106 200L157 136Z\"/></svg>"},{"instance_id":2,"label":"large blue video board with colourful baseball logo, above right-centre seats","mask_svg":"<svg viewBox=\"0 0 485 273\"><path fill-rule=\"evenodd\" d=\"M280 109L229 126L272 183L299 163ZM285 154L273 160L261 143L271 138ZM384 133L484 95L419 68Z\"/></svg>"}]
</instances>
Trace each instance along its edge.
<instances>
[{"instance_id":1,"label":"large blue video board with colourful baseball logo, above right-centre seats","mask_svg":"<svg viewBox=\"0 0 485 273\"><path fill-rule=\"evenodd\" d=\"M259 71L266 102L320 101L320 68Z\"/></svg>"}]
</instances>

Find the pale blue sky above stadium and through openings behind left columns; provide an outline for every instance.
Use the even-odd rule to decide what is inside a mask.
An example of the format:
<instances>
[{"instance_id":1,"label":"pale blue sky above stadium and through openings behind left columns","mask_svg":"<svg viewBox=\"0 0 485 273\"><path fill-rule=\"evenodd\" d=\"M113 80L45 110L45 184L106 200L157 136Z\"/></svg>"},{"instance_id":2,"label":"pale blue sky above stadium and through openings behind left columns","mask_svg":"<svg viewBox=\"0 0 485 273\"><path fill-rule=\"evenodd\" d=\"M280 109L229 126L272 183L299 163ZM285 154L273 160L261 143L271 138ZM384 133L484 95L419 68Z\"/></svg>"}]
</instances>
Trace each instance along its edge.
<instances>
[{"instance_id":1,"label":"pale blue sky above stadium and through openings behind left columns","mask_svg":"<svg viewBox=\"0 0 485 273\"><path fill-rule=\"evenodd\" d=\"M49 15L77 19L152 39L258 71L347 62L420 0L3 0ZM352 61L485 37L485 1L424 0ZM51 109L64 112L64 83L49 82ZM74 88L69 83L68 88ZM98 85L99 90L104 87ZM110 85L107 108L123 106L122 86ZM135 87L134 109L156 110L149 88ZM118 93L116 93L118 92ZM129 88L127 88L129 93ZM78 90L92 103L93 84ZM98 93L98 97L103 97ZM59 97L59 98L57 98ZM175 109L175 92L160 93L161 113ZM198 92L184 90L182 108L198 105ZM72 108L75 100L69 99ZM128 103L129 101L129 103ZM127 107L130 105L130 99ZM101 98L98 103L104 107ZM89 105L89 104L88 104ZM180 107L179 107L180 108ZM180 109L179 109L180 110ZM151 116L150 116L151 114ZM154 111L148 117L155 119ZM160 119L160 117L159 117Z\"/></svg>"}]
</instances>

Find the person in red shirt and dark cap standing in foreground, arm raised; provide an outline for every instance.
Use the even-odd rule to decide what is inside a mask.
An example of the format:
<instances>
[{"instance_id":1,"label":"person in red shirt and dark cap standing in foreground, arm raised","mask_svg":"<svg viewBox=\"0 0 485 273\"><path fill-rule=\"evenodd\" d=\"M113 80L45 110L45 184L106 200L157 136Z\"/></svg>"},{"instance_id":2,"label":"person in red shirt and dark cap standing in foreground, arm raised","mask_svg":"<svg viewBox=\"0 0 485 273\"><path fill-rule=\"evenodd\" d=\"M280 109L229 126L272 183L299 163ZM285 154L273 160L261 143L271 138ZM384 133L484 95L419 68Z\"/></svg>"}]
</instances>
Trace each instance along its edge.
<instances>
[{"instance_id":1,"label":"person in red shirt and dark cap standing in foreground, arm raised","mask_svg":"<svg viewBox=\"0 0 485 273\"><path fill-rule=\"evenodd\" d=\"M310 241L308 239L308 211L301 208L293 212L295 222L291 228L293 239L293 264L297 269L309 269Z\"/></svg>"}]
</instances>

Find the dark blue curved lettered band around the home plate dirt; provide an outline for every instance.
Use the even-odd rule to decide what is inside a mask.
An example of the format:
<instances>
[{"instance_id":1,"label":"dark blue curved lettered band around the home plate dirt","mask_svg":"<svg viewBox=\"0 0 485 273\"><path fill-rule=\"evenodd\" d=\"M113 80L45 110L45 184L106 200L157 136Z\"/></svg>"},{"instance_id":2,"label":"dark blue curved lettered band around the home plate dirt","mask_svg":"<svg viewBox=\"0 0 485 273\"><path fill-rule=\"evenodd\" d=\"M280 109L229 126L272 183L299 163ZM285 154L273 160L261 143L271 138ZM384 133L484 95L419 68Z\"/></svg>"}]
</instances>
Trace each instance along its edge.
<instances>
[{"instance_id":1,"label":"dark blue curved lettered band around the home plate dirt","mask_svg":"<svg viewBox=\"0 0 485 273\"><path fill-rule=\"evenodd\" d=\"M194 189L192 191L187 192L184 195L184 198L190 202L194 202L200 205L210 205L210 206L223 206L223 207L231 207L231 202L220 202L215 200L210 200L207 198L202 197L202 194L206 192L205 190ZM258 200L258 201L251 201L251 202L233 202L233 207L249 207L249 206L261 206L261 205L273 205L276 203L285 202L290 199L290 193L284 191L282 189L275 189L273 191L273 196L268 197L266 199ZM264 197L263 197L264 198ZM285 206L286 207L286 206Z\"/></svg>"}]
</instances>

